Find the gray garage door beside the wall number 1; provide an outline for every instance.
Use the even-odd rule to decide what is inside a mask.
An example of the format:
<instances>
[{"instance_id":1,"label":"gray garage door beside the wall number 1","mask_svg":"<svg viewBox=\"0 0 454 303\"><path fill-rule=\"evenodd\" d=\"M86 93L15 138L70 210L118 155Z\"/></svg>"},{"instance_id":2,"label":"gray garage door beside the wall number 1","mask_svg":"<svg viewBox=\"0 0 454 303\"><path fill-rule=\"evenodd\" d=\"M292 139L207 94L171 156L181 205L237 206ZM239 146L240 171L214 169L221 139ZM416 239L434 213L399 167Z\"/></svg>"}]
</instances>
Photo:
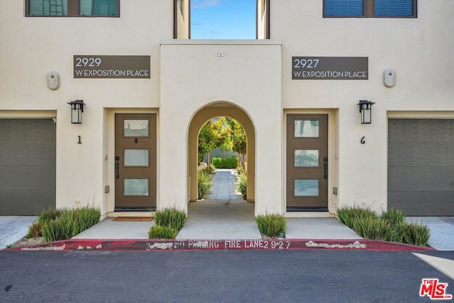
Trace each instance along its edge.
<instances>
[{"instance_id":1,"label":"gray garage door beside the wall number 1","mask_svg":"<svg viewBox=\"0 0 454 303\"><path fill-rule=\"evenodd\" d=\"M55 206L55 124L0 119L0 215Z\"/></svg>"}]
</instances>

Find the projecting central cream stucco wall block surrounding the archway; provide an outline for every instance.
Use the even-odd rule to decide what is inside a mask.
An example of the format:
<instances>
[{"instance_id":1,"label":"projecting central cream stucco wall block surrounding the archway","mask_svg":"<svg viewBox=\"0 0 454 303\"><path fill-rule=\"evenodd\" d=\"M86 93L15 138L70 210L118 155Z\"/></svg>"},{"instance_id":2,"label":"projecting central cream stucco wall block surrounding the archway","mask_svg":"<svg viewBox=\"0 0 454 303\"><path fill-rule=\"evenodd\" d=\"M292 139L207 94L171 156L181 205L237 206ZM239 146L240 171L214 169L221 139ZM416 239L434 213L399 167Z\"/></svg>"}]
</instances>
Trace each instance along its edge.
<instances>
[{"instance_id":1,"label":"projecting central cream stucco wall block surrounding the archway","mask_svg":"<svg viewBox=\"0 0 454 303\"><path fill-rule=\"evenodd\" d=\"M281 42L275 40L162 41L160 129L165 141L159 148L158 203L186 209L192 116L208 104L227 101L254 124L255 212L282 211L280 51Z\"/></svg>"}]
</instances>

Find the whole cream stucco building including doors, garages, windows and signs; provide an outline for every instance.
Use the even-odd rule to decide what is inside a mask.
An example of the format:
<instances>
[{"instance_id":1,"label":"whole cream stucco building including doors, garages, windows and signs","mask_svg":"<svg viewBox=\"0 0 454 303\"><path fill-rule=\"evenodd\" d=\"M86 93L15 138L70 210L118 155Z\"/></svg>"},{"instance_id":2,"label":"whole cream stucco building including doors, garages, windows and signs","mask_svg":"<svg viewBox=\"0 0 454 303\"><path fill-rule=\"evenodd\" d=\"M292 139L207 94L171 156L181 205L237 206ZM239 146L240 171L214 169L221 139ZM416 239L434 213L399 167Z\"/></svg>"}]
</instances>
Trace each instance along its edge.
<instances>
[{"instance_id":1,"label":"whole cream stucco building including doors, garages, windows and signs","mask_svg":"<svg viewBox=\"0 0 454 303\"><path fill-rule=\"evenodd\" d=\"M258 0L257 39L192 40L189 0L1 0L0 215L187 209L230 116L255 214L453 216L454 2L345 3Z\"/></svg>"}]
</instances>

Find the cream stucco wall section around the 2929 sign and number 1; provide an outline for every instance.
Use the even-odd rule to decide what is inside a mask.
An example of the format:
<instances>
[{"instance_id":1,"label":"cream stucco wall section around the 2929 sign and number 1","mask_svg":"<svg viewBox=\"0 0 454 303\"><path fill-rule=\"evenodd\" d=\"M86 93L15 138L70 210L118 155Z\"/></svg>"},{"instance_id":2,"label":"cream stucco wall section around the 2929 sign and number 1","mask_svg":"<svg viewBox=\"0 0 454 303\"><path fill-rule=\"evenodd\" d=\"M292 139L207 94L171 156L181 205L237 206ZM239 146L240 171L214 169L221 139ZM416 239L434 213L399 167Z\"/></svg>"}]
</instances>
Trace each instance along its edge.
<instances>
[{"instance_id":1,"label":"cream stucco wall section around the 2929 sign and number 1","mask_svg":"<svg viewBox=\"0 0 454 303\"><path fill-rule=\"evenodd\" d=\"M121 1L120 18L25 17L24 5L22 0L0 1L1 115L11 115L6 110L20 110L15 116L55 112L57 206L95 202L105 212L109 194L104 186L110 184L113 191L105 175L114 159L109 153L114 141L106 141L113 124L105 120L113 119L114 111L104 109L160 106L159 41L172 38L172 1ZM73 55L150 55L151 77L74 79ZM47 86L52 70L60 75L55 91ZM82 125L70 123L67 102L74 99L87 104Z\"/></svg>"}]
</instances>

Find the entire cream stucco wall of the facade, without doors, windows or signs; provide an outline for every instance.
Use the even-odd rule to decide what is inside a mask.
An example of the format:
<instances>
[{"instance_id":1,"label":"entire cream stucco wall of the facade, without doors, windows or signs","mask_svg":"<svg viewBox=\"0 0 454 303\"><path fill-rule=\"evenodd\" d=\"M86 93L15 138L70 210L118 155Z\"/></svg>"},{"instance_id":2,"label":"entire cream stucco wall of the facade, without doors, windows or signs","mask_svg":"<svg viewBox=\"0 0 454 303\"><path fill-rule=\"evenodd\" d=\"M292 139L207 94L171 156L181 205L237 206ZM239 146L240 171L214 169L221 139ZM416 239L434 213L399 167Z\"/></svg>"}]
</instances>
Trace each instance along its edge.
<instances>
[{"instance_id":1,"label":"entire cream stucco wall of the facade, without doors, windows or signs","mask_svg":"<svg viewBox=\"0 0 454 303\"><path fill-rule=\"evenodd\" d=\"M192 117L218 101L243 109L255 128L256 214L285 209L287 113L329 116L331 212L386 208L388 116L454 118L451 0L418 1L418 18L323 18L321 0L275 0L276 40L240 41L167 40L170 0L121 1L120 18L25 17L24 3L0 0L0 116L57 117L59 206L113 210L116 112L158 113L157 203L186 208ZM151 77L74 79L73 55L150 55ZM292 56L368 57L369 79L292 80ZM387 68L397 73L394 87L383 84ZM60 75L55 91L51 70ZM87 104L82 125L70 123L74 99ZM360 124L360 99L376 102L370 125Z\"/></svg>"}]
</instances>

